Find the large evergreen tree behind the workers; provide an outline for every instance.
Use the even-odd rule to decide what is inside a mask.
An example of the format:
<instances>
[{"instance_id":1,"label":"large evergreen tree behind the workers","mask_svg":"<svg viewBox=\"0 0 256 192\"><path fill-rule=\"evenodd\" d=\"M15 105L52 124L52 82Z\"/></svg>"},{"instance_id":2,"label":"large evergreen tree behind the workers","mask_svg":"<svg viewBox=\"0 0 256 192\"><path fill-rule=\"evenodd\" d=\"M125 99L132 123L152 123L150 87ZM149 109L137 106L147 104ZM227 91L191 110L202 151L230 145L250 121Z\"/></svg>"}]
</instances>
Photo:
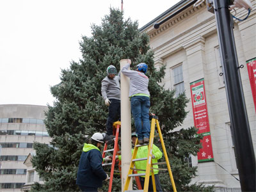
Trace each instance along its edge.
<instances>
[{"instance_id":1,"label":"large evergreen tree behind the workers","mask_svg":"<svg viewBox=\"0 0 256 192\"><path fill-rule=\"evenodd\" d=\"M194 127L185 127L171 132L182 125L187 113L188 99L185 94L174 97L174 91L160 86L164 67L154 67L154 52L149 47L147 34L140 33L138 22L124 20L123 13L110 9L100 26L92 25L92 36L83 36L80 42L83 58L70 63L70 68L61 71L61 82L51 87L56 98L53 106L45 113L45 126L51 136L51 146L35 143L36 156L32 163L36 172L44 178L44 185L35 184L33 191L79 191L76 173L86 136L106 131L108 108L100 94L101 80L106 76L108 65L120 70L119 61L132 60L131 67L145 62L150 79L150 111L159 116L163 129L166 150L172 166L173 177L179 191L201 190L202 186L189 186L196 168L189 167L184 157L196 155L201 136L196 136ZM128 95L127 95L128 97ZM168 173L159 173L165 191L172 190ZM120 191L118 177L113 191ZM105 182L103 190L108 188Z\"/></svg>"}]
</instances>

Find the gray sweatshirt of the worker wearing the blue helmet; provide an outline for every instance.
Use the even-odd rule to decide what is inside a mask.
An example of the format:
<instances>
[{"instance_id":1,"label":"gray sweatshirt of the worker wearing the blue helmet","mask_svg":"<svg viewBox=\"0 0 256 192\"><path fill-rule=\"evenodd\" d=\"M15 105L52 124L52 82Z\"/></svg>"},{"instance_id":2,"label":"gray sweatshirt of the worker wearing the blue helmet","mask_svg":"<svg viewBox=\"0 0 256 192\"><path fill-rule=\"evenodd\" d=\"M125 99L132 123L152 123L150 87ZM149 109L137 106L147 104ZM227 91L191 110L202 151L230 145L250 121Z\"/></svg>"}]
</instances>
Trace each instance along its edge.
<instances>
[{"instance_id":1,"label":"gray sweatshirt of the worker wearing the blue helmet","mask_svg":"<svg viewBox=\"0 0 256 192\"><path fill-rule=\"evenodd\" d=\"M148 92L148 77L143 72L136 70L129 70L130 64L127 63L121 70L121 72L130 78L130 90L129 97L136 94L145 94L150 96Z\"/></svg>"}]
</instances>

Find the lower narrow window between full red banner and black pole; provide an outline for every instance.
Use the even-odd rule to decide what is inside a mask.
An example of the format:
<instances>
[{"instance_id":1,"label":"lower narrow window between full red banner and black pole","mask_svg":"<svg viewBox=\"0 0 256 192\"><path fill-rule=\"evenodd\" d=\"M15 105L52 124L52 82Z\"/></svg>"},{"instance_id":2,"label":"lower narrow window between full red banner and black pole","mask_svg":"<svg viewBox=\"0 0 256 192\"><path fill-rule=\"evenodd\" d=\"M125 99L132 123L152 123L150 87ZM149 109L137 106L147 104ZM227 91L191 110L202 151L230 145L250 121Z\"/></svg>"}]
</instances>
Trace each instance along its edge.
<instances>
[{"instance_id":1,"label":"lower narrow window between full red banner and black pole","mask_svg":"<svg viewBox=\"0 0 256 192\"><path fill-rule=\"evenodd\" d=\"M234 146L234 134L231 129L230 123L226 124L226 130L227 130L227 141L228 141L231 167L233 171L237 171L237 161L236 161L237 157L236 157L235 146Z\"/></svg>"}]
</instances>

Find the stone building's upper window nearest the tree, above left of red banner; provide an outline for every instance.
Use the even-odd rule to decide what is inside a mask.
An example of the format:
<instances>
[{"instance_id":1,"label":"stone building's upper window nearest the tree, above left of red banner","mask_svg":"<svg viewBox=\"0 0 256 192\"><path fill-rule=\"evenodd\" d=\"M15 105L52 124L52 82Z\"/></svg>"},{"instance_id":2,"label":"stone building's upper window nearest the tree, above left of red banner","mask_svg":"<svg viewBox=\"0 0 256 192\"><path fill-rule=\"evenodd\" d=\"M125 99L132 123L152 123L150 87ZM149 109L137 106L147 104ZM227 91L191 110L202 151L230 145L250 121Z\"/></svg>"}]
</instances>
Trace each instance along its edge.
<instances>
[{"instance_id":1,"label":"stone building's upper window nearest the tree, above left of red banner","mask_svg":"<svg viewBox=\"0 0 256 192\"><path fill-rule=\"evenodd\" d=\"M180 93L184 92L184 81L183 81L183 72L182 65L172 68L172 82L173 88L175 88L175 96L177 97Z\"/></svg>"}]
</instances>

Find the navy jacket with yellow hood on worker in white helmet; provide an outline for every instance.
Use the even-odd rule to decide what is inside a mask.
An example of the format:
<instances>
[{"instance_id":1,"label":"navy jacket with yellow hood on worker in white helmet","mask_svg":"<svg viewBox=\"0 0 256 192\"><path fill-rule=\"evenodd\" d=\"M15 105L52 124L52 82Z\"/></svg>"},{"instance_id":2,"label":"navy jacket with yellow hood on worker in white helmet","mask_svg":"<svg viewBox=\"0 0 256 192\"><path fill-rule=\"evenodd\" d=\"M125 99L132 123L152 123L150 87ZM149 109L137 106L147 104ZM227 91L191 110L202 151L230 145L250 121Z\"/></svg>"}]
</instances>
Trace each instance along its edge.
<instances>
[{"instance_id":1,"label":"navy jacket with yellow hood on worker in white helmet","mask_svg":"<svg viewBox=\"0 0 256 192\"><path fill-rule=\"evenodd\" d=\"M76 184L90 188L101 188L102 181L107 179L107 174L102 168L102 160L99 148L84 143Z\"/></svg>"}]
</instances>

